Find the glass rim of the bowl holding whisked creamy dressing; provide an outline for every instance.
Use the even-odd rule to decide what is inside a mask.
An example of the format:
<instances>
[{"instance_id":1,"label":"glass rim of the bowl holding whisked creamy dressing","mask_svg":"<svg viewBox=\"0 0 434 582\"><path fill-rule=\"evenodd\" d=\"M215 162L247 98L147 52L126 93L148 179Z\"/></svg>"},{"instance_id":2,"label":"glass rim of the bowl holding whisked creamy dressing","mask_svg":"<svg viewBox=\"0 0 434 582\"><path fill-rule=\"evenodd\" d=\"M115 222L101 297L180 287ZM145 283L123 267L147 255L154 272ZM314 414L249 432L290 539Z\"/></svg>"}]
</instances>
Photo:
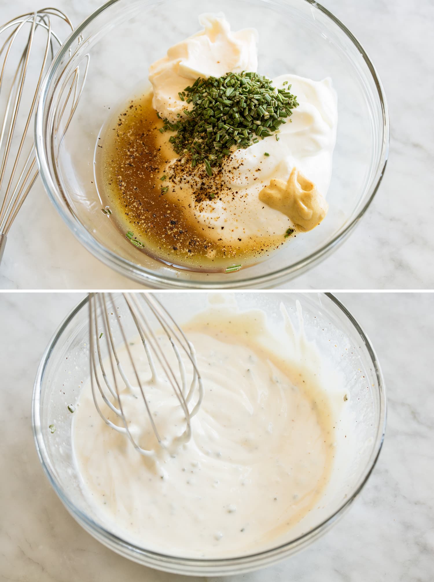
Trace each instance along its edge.
<instances>
[{"instance_id":1,"label":"glass rim of the bowl holding whisked creamy dressing","mask_svg":"<svg viewBox=\"0 0 434 582\"><path fill-rule=\"evenodd\" d=\"M308 296L311 293L301 294ZM101 525L95 523L95 521L88 517L86 513L81 511L81 509L77 508L77 506L74 505L72 501L70 501L69 497L63 491L62 485L57 480L54 467L52 466L47 449L45 447L44 437L42 436L40 417L40 395L45 368L47 367L51 353L53 352L56 343L61 340L63 332L69 325L70 321L72 321L74 316L79 313L81 309L86 307L88 302L88 296L86 296L76 305L76 307L74 307L69 312L69 314L66 315L65 319L62 321L52 338L49 340L49 343L45 348L44 354L42 354L41 361L38 366L31 401L31 424L38 458L52 488L61 499L63 505L72 515L72 517L99 542L102 542L102 544L108 546L113 551L120 553L120 555L124 557L132 559L143 565L155 567L159 570L165 570L166 572L180 574L188 573L197 576L204 574L223 575L230 573L249 572L251 570L258 569L259 567L264 567L270 563L277 562L278 560L283 559L292 553L300 551L300 549L303 549L310 542L314 541L318 537L321 537L328 530L328 528L335 524L336 521L343 515L343 513L346 512L351 503L353 503L355 498L357 498L367 483L368 478L371 475L376 462L378 461L378 457L382 449L383 441L385 438L387 419L386 386L378 357L376 356L371 341L358 321L355 320L353 315L351 315L350 311L348 311L347 308L344 307L343 304L338 299L336 299L332 293L322 294L328 297L328 299L330 299L332 303L335 304L335 306L337 306L339 310L346 316L347 320L355 329L355 332L358 333L362 342L365 344L373 364L372 369L376 376L379 393L379 420L378 426L376 427L375 448L373 448L372 453L365 465L364 471L362 471L357 484L354 486L353 492L348 495L346 501L341 503L335 512L333 512L327 519L321 521L321 523L319 523L317 526L307 531L305 534L294 538L294 540L291 540L290 542L280 544L276 547L248 555L233 556L231 558L201 559L183 558L181 556L172 556L165 553L140 548L139 546L134 545L132 542L127 542L126 540L123 540L122 537L119 537L118 535L113 534L111 531L106 530Z\"/></svg>"}]
</instances>

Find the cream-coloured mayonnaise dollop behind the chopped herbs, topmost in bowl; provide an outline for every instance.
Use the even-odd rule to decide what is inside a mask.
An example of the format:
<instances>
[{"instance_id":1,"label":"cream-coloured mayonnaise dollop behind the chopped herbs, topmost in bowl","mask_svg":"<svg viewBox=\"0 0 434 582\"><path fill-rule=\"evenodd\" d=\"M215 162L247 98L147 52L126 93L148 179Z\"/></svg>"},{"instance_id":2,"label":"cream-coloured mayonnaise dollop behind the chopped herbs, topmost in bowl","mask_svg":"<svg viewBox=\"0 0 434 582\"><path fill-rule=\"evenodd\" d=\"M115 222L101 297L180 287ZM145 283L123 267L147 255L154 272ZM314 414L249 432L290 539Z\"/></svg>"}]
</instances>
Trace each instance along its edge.
<instances>
[{"instance_id":1,"label":"cream-coloured mayonnaise dollop behind the chopped herbs, topmost in bowl","mask_svg":"<svg viewBox=\"0 0 434 582\"><path fill-rule=\"evenodd\" d=\"M221 77L243 70L258 68L255 29L230 30L223 14L202 14L202 30L169 48L167 55L149 69L149 80L154 90L152 107L171 122L184 117L188 108L179 97L191 80L198 77Z\"/></svg>"}]
</instances>

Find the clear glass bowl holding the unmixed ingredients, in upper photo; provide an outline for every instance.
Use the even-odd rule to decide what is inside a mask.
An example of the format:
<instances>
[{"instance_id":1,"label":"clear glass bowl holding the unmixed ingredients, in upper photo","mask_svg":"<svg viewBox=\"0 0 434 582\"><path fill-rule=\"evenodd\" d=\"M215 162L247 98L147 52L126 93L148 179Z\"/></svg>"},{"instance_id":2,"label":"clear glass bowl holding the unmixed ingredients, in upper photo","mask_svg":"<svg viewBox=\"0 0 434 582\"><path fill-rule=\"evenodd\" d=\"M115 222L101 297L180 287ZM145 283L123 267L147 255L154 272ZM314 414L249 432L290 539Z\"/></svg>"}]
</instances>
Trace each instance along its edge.
<instances>
[{"instance_id":1,"label":"clear glass bowl holding the unmixed ingredients, in upper photo","mask_svg":"<svg viewBox=\"0 0 434 582\"><path fill-rule=\"evenodd\" d=\"M208 11L223 11L233 29L258 30L259 72L330 76L338 95L326 220L266 260L228 274L170 267L137 250L101 212L94 179L101 126L120 104L143 93L148 66L197 31L197 16ZM266 288L325 258L360 220L385 170L389 116L368 55L316 2L118 0L77 27L54 59L38 102L35 147L42 182L63 220L95 257L123 275L162 289Z\"/></svg>"}]
</instances>

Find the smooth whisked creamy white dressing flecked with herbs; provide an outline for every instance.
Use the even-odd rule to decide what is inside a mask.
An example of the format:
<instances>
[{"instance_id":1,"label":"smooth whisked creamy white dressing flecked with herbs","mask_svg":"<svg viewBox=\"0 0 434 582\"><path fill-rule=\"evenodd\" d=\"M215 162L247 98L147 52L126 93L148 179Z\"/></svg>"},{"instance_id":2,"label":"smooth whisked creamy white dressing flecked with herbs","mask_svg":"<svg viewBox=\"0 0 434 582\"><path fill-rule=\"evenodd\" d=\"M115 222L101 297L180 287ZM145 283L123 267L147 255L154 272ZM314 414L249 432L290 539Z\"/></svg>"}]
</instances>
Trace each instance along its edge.
<instances>
[{"instance_id":1,"label":"smooth whisked creamy white dressing flecked with herbs","mask_svg":"<svg viewBox=\"0 0 434 582\"><path fill-rule=\"evenodd\" d=\"M106 527L162 553L227 557L287 541L318 506L333 463L333 419L315 353L310 359L304 345L297 365L269 351L265 345L278 344L257 310L210 310L184 329L205 389L190 442L170 452L159 447L134 391L125 391L131 430L155 449L141 456L98 416L87 385L73 420L84 493ZM293 340L287 335L285 345ZM143 346L131 349L149 380ZM150 382L147 395L158 429L182 434L168 387Z\"/></svg>"}]
</instances>

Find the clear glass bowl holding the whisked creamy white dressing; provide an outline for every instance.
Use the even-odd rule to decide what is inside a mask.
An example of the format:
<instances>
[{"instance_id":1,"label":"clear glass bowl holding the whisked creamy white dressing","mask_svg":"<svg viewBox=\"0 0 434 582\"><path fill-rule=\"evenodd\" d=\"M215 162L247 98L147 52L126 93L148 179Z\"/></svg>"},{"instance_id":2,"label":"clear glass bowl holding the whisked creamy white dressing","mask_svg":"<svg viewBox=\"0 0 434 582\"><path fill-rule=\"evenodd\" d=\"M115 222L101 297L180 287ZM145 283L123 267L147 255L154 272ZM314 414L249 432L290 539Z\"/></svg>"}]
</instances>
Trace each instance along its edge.
<instances>
[{"instance_id":1,"label":"clear glass bowl holding the whisked creamy white dressing","mask_svg":"<svg viewBox=\"0 0 434 582\"><path fill-rule=\"evenodd\" d=\"M208 305L204 293L161 293L157 296L180 323ZM340 438L339 431L351 435L351 438L340 441L345 445L340 445L339 455L336 453L328 489L318 508L309 514L309 527L304 530L307 533L300 535L296 526L289 532L286 543L272 549L228 559L162 555L118 537L94 513L80 488L73 462L73 415L67 410L68 404L75 404L79 399L81 382L88 378L87 299L74 308L56 331L42 356L35 379L32 402L34 440L42 467L56 494L74 519L97 540L126 558L159 570L190 576L243 573L305 548L348 509L367 482L382 446L386 395L379 363L360 325L335 297L314 293L236 293L233 300L242 310L264 310L276 329L283 325L280 302L291 315L296 313L296 300L299 300L308 340L314 340L322 356L343 375L348 389L346 416L340 417L336 438ZM123 308L120 306L120 315ZM136 336L137 331L131 330L131 333ZM51 424L56 427L54 434L49 430Z\"/></svg>"}]
</instances>

